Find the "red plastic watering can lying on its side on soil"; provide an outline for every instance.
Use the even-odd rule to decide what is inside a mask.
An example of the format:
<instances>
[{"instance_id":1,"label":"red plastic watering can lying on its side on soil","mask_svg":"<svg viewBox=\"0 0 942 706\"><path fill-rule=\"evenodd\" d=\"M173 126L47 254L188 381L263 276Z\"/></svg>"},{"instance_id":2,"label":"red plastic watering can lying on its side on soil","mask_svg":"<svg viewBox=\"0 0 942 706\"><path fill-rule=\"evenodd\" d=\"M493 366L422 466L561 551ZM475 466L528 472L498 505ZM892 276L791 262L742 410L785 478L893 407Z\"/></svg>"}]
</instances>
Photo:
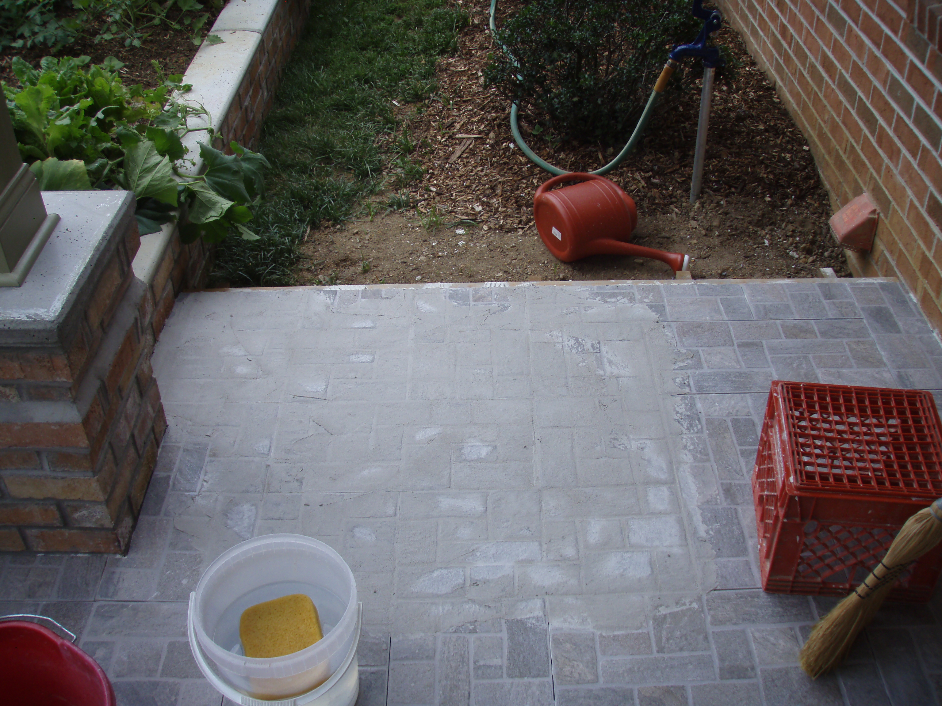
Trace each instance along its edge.
<instances>
[{"instance_id":1,"label":"red plastic watering can lying on its side on soil","mask_svg":"<svg viewBox=\"0 0 942 706\"><path fill-rule=\"evenodd\" d=\"M563 182L578 184L551 190ZM638 224L635 202L596 174L561 174L540 185L533 197L533 217L546 248L564 263L589 255L634 255L660 260L674 272L690 265L687 255L628 242Z\"/></svg>"}]
</instances>

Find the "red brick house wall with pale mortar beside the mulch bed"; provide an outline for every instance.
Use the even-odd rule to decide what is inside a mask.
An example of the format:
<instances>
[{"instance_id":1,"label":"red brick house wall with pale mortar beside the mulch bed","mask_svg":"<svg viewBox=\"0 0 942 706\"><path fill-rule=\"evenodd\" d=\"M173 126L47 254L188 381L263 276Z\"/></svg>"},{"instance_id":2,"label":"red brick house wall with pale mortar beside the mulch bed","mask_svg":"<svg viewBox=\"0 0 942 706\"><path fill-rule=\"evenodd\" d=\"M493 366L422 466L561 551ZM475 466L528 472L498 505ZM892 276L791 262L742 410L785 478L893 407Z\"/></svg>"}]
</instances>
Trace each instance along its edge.
<instances>
[{"instance_id":1,"label":"red brick house wall with pale mortar beside the mulch bed","mask_svg":"<svg viewBox=\"0 0 942 706\"><path fill-rule=\"evenodd\" d=\"M837 209L880 209L855 275L899 277L942 329L942 5L720 0L807 138Z\"/></svg>"}]
</instances>

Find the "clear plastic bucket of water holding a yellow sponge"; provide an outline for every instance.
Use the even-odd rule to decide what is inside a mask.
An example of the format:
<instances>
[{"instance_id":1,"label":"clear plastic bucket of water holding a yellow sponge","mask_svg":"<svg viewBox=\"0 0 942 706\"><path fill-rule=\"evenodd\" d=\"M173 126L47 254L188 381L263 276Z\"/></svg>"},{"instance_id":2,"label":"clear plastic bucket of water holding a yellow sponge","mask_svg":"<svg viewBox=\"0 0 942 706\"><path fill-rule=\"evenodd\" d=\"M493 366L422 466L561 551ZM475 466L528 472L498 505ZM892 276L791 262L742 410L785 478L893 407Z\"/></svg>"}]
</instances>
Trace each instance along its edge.
<instances>
[{"instance_id":1,"label":"clear plastic bucket of water holding a yellow sponge","mask_svg":"<svg viewBox=\"0 0 942 706\"><path fill-rule=\"evenodd\" d=\"M284 657L244 656L242 611L293 593L311 597L324 636ZM252 698L276 699L305 694L330 679L353 644L357 612L356 582L340 554L317 539L268 535L219 554L193 592L189 620L224 682Z\"/></svg>"}]
</instances>

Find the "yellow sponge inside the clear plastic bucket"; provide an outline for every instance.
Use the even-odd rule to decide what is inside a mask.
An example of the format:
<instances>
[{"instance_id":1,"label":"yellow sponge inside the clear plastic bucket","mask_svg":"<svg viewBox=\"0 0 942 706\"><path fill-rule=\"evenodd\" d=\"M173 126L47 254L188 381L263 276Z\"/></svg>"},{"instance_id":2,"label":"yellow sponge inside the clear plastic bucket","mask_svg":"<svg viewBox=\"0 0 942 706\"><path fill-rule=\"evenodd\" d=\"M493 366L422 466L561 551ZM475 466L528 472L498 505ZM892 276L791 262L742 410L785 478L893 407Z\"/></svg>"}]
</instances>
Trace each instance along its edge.
<instances>
[{"instance_id":1,"label":"yellow sponge inside the clear plastic bucket","mask_svg":"<svg viewBox=\"0 0 942 706\"><path fill-rule=\"evenodd\" d=\"M282 657L310 647L324 636L317 607L303 593L246 608L238 635L246 657Z\"/></svg>"}]
</instances>

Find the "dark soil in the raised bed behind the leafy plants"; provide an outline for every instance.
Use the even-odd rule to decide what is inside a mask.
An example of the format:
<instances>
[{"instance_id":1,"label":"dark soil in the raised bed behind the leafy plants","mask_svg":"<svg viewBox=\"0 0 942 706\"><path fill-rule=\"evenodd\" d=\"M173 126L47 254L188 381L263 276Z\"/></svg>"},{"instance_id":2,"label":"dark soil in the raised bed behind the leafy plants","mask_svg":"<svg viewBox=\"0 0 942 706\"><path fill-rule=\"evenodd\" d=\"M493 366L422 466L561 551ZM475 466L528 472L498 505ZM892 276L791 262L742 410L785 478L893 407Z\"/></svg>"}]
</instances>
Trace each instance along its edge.
<instances>
[{"instance_id":1,"label":"dark soil in the raised bed behind the leafy plants","mask_svg":"<svg viewBox=\"0 0 942 706\"><path fill-rule=\"evenodd\" d=\"M221 6L219 9L221 9ZM204 5L201 12L209 13L209 18L203 24L203 29L200 32L201 37L205 38L209 34L210 27L213 26L217 15L219 15L219 9L212 8L208 3ZM63 12L63 15L68 14L70 14L69 11ZM160 68L165 74L184 73L200 47L190 40L186 32L171 30L166 25L148 27L144 31L148 30L152 34L141 40L139 47L126 47L123 39L95 43L94 38L99 33L100 27L91 25L89 25L86 36L77 38L71 44L66 44L55 54L50 52L50 48L47 46L34 46L29 49L6 47L3 51L0 51L0 81L6 81L10 86L19 87L20 82L10 70L14 56L20 56L34 67L39 66L40 59L43 56L57 56L58 58L62 56L90 56L91 62L94 64L101 63L108 56L114 56L124 63L121 73L125 86L141 84L145 88L154 88L160 84L152 63L154 60L160 64Z\"/></svg>"}]
</instances>

